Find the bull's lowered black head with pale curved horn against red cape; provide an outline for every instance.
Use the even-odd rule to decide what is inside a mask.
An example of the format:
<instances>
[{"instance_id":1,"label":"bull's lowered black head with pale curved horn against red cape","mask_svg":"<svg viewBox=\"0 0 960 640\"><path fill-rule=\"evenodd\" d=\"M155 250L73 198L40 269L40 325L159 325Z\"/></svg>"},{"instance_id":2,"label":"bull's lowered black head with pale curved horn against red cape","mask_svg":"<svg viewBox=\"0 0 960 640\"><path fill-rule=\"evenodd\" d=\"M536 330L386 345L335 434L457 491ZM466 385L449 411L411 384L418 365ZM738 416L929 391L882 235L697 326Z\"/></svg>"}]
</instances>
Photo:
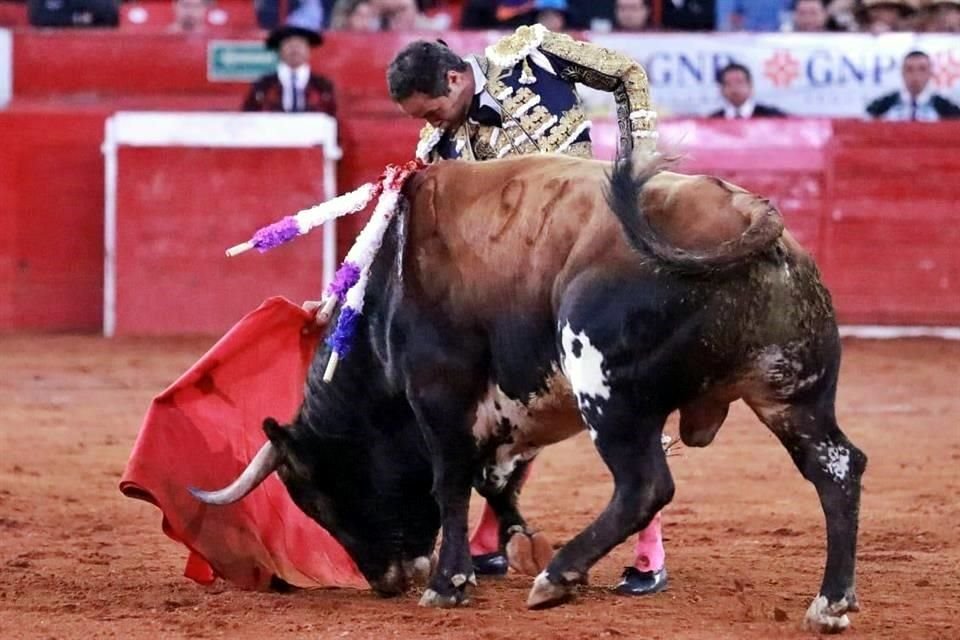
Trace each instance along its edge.
<instances>
[{"instance_id":1,"label":"bull's lowered black head with pale curved horn against red cape","mask_svg":"<svg viewBox=\"0 0 960 640\"><path fill-rule=\"evenodd\" d=\"M412 412L389 404L396 406L363 412L378 422L336 433L303 423L303 413L290 426L268 418L269 442L233 484L191 491L203 502L230 504L277 471L297 506L344 546L377 593L401 593L429 574L440 516Z\"/></svg>"}]
</instances>

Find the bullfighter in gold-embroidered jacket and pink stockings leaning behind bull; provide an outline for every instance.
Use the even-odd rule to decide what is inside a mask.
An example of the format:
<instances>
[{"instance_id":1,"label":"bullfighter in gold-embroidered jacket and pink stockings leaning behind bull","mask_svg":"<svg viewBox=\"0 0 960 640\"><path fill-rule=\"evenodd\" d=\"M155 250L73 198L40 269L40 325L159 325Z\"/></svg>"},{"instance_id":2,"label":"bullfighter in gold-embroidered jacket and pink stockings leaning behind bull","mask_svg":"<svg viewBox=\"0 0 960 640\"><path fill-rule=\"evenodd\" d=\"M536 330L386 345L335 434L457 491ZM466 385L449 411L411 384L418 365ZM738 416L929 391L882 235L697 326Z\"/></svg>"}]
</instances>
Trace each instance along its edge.
<instances>
[{"instance_id":1,"label":"bullfighter in gold-embroidered jacket and pink stockings leaning behind bull","mask_svg":"<svg viewBox=\"0 0 960 640\"><path fill-rule=\"evenodd\" d=\"M620 126L619 152L656 148L656 117L647 76L629 57L552 33L522 26L462 58L442 42L405 47L387 72L390 95L408 115L427 121L417 156L491 160L534 153L591 157L590 122L576 83L613 93ZM487 506L470 542L477 573L503 574L499 523ZM634 566L620 593L644 595L667 585L660 514L639 534Z\"/></svg>"}]
</instances>

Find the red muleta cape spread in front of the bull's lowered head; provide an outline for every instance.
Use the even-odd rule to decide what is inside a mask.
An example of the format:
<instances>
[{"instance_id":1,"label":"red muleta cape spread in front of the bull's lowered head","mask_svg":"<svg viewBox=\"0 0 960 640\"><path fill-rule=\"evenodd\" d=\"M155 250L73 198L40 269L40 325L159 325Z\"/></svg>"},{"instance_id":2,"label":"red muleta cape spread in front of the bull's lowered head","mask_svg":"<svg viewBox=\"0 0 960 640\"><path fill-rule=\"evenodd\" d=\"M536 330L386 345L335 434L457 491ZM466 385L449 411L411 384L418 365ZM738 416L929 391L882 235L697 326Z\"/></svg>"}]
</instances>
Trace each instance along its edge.
<instances>
[{"instance_id":1,"label":"red muleta cape spread in front of the bull's lowered head","mask_svg":"<svg viewBox=\"0 0 960 640\"><path fill-rule=\"evenodd\" d=\"M120 491L155 504L163 531L190 550L184 574L265 589L367 586L340 544L293 503L271 474L240 502L205 505L187 487L232 482L266 442L263 419L290 420L317 345L310 315L283 298L247 314L153 399Z\"/></svg>"}]
</instances>

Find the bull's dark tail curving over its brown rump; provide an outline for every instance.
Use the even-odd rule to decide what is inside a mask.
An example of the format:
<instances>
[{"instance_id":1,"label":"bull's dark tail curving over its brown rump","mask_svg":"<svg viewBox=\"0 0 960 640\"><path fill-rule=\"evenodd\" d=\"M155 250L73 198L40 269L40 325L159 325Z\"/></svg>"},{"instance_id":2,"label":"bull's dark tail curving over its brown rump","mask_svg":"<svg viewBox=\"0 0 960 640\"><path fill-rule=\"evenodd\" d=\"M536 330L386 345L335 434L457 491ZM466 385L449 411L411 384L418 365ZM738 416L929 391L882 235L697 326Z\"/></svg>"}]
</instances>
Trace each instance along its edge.
<instances>
[{"instance_id":1,"label":"bull's dark tail curving over its brown rump","mask_svg":"<svg viewBox=\"0 0 960 640\"><path fill-rule=\"evenodd\" d=\"M690 251L673 246L657 233L644 213L641 191L657 173L674 160L657 156L638 171L632 158L618 161L610 175L607 203L620 220L633 247L655 259L671 271L689 275L722 273L742 266L767 251L783 233L783 218L776 207L763 207L750 213L750 222L739 237L720 243L713 249Z\"/></svg>"}]
</instances>

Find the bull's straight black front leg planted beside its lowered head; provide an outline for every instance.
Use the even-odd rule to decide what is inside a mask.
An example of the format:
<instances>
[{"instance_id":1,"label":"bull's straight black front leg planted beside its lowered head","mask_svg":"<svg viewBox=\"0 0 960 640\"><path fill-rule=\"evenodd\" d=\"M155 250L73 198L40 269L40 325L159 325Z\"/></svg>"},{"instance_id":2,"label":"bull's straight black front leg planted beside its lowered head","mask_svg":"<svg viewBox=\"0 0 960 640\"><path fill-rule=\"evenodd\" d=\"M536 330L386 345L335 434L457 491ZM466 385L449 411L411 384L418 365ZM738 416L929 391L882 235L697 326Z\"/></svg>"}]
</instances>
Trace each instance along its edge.
<instances>
[{"instance_id":1,"label":"bull's straight black front leg planted beside its lowered head","mask_svg":"<svg viewBox=\"0 0 960 640\"><path fill-rule=\"evenodd\" d=\"M409 391L417 421L433 462L433 493L440 506L443 535L429 586L420 599L426 607L453 607L467 602L476 585L467 516L476 448L467 414L471 400L444 382L414 385Z\"/></svg>"}]
</instances>

